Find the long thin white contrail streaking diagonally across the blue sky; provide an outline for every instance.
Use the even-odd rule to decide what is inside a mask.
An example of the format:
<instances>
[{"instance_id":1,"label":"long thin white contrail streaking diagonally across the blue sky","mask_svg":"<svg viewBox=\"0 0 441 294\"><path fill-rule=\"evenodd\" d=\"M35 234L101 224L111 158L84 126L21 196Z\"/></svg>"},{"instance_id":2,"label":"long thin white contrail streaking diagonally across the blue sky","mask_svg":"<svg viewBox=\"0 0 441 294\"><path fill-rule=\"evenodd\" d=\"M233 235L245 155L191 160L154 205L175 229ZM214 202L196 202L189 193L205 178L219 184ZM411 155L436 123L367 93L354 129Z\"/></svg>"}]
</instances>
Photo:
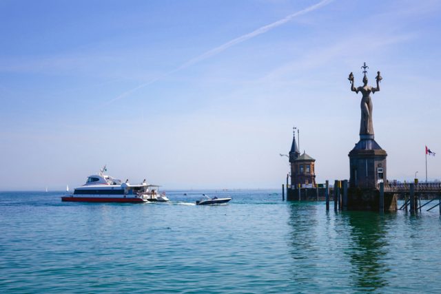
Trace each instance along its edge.
<instances>
[{"instance_id":1,"label":"long thin white contrail streaking diagonally across the blue sky","mask_svg":"<svg viewBox=\"0 0 441 294\"><path fill-rule=\"evenodd\" d=\"M147 81L146 83L143 83L139 86L134 87L131 90L124 92L123 94L119 95L118 97L113 98L111 101L109 101L109 103L117 101L121 98L125 98L126 96L132 94L133 92L136 92L137 90L139 90L147 85L150 85L152 83L155 83L158 80L161 80L161 78L165 78L166 76L169 76L170 74L173 74L174 72L178 72L179 70L183 70L183 69L189 67L190 65L194 65L195 63L198 63L200 61L208 59L209 57L212 57L216 54L219 54L220 52L223 52L238 43L242 43L244 41L247 41L249 39L254 38L255 36L258 36L260 34L264 34L265 32L268 32L269 30L277 28L278 26L283 25L283 24L291 21L292 19L294 19L302 14L307 14L308 12L317 10L318 8L321 8L322 6L329 4L331 1L333 1L333 0L322 0L322 1L314 4L313 6L309 6L308 8L305 8L303 10L299 10L298 12L294 12L293 14L289 14L287 17L285 17L283 19L275 21L274 23L269 23L268 25L264 25L263 27L260 27L257 30L254 30L253 32L249 32L248 34L244 34L243 36L239 36L236 39L232 39L231 41L228 41L227 43L224 43L223 45L220 45L216 48L213 48L212 50L208 50L207 52L205 52L199 56L194 57L194 59L190 59L189 61L183 63L181 66L176 67L174 70L170 70L170 72L166 72L165 74L162 74L161 76L157 76L156 78L152 78L150 81Z\"/></svg>"}]
</instances>

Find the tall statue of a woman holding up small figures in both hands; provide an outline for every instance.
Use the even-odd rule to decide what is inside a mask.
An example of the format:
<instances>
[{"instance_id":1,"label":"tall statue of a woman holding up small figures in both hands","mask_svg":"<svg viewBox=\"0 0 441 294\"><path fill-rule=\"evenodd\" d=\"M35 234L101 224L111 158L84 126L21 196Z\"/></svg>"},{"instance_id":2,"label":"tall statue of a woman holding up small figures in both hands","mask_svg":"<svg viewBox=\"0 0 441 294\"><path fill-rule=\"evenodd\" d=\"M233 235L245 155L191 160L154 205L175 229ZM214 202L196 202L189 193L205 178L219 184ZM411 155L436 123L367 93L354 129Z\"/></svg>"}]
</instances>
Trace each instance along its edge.
<instances>
[{"instance_id":1,"label":"tall statue of a woman holding up small figures in both hands","mask_svg":"<svg viewBox=\"0 0 441 294\"><path fill-rule=\"evenodd\" d=\"M362 66L362 69L364 69L363 74L363 85L361 87L354 87L353 86L353 74L352 72L349 74L348 80L351 82L351 91L361 92L363 95L361 98L361 122L360 122L360 136L373 136L373 125L372 125L372 100L371 100L371 92L372 94L375 92L380 91L380 81L382 80L382 77L380 76L380 72L377 72L376 80L377 80L377 87L371 87L367 85L367 68L369 68L366 63Z\"/></svg>"}]
</instances>

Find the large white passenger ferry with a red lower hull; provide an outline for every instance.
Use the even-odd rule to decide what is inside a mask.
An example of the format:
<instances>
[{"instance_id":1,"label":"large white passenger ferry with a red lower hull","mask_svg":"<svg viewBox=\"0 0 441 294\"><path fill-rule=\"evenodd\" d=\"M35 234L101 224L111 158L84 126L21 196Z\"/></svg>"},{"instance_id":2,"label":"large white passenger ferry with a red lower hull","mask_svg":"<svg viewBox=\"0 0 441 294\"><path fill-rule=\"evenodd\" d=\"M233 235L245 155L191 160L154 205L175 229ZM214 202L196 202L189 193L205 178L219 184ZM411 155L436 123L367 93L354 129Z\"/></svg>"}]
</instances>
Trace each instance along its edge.
<instances>
[{"instance_id":1,"label":"large white passenger ferry with a red lower hull","mask_svg":"<svg viewBox=\"0 0 441 294\"><path fill-rule=\"evenodd\" d=\"M158 193L158 185L148 185L144 180L139 185L132 185L127 179L121 182L112 176L107 176L105 167L99 174L88 177L74 193L61 197L61 201L71 202L166 202L169 199L165 193Z\"/></svg>"}]
</instances>

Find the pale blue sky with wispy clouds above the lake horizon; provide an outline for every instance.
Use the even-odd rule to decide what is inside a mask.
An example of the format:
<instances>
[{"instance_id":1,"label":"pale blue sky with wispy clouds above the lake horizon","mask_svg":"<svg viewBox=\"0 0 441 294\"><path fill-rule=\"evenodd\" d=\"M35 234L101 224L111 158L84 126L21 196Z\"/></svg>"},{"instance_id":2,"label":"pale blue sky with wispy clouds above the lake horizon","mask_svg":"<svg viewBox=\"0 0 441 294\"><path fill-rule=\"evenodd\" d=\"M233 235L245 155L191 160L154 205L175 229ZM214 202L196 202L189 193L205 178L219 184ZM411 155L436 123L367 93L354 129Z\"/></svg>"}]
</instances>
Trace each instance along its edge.
<instances>
[{"instance_id":1,"label":"pale blue sky with wispy clouds above the lake horizon","mask_svg":"<svg viewBox=\"0 0 441 294\"><path fill-rule=\"evenodd\" d=\"M441 1L0 1L0 190L103 165L163 189L280 188L293 127L349 178L361 94L387 178L441 179Z\"/></svg>"}]
</instances>

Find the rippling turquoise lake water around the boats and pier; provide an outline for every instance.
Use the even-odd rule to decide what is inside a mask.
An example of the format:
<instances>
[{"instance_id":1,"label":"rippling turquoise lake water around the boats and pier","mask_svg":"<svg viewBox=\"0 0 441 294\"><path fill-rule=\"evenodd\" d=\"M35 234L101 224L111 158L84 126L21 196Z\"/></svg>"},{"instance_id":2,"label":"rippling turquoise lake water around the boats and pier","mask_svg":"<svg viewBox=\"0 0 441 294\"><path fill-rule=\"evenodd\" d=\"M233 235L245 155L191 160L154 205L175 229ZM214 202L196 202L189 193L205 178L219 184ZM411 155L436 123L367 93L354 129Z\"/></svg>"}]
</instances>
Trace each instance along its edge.
<instances>
[{"instance_id":1,"label":"rippling turquoise lake water around the boats and pier","mask_svg":"<svg viewBox=\"0 0 441 294\"><path fill-rule=\"evenodd\" d=\"M269 190L199 207L207 191L184 192L168 193L170 204L1 192L0 292L441 292L436 209L327 212Z\"/></svg>"}]
</instances>

